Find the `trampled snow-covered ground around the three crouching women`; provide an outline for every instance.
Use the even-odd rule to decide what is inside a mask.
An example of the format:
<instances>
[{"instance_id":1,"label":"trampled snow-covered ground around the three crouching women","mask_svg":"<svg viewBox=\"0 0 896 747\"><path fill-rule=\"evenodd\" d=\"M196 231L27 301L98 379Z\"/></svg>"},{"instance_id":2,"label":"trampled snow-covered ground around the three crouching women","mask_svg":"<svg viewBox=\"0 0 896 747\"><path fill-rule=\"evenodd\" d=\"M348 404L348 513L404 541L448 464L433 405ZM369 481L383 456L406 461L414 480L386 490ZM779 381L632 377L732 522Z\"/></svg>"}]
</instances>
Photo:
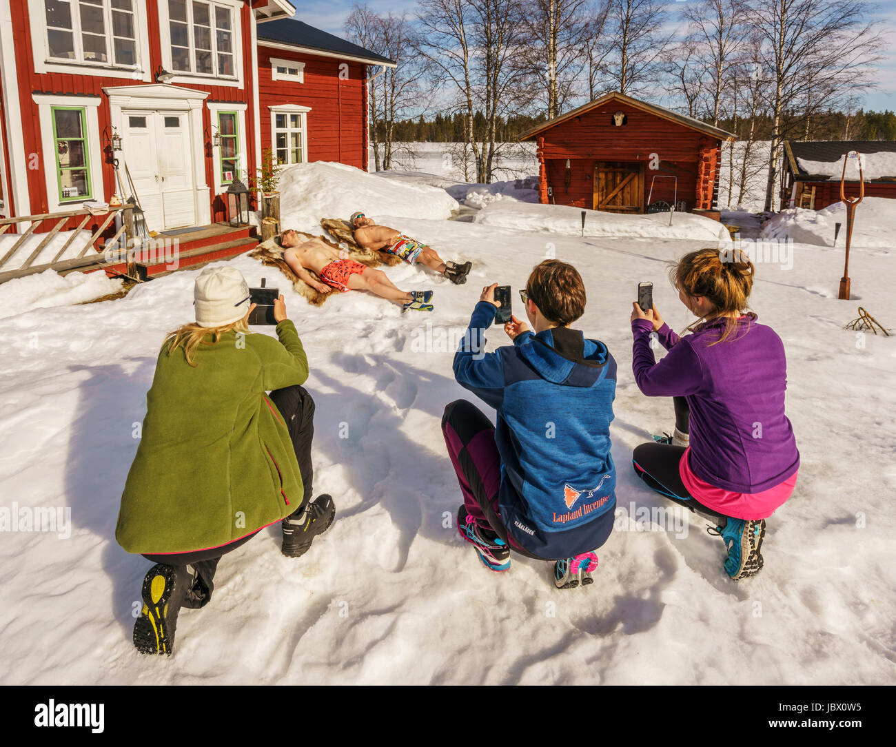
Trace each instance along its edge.
<instances>
[{"instance_id":1,"label":"trampled snow-covered ground around the three crouching women","mask_svg":"<svg viewBox=\"0 0 896 747\"><path fill-rule=\"evenodd\" d=\"M378 178L309 174L290 176L295 191L284 201L298 228L345 214ZM753 307L787 348L802 466L796 494L768 522L765 568L736 583L704 522L660 517L665 504L629 467L635 445L672 425L671 401L643 397L632 379L636 286L652 280L659 309L682 330L691 320L668 285L668 262L705 237L581 238L450 221L433 215L441 203L428 189L401 188L403 198L383 186L382 202L358 209L445 258L474 262L462 286L408 265L387 269L401 288L434 288L432 314L354 292L314 308L275 270L245 255L230 262L250 285L267 277L284 289L317 404L315 492L333 495L337 519L300 560L280 555L275 528L228 554L211 605L182 611L171 659L134 652L150 562L125 554L113 534L159 345L193 318L198 270L120 300L4 320L0 510L28 518L58 509L61 521L55 533L7 524L0 539L0 681L892 683L896 337L842 329L857 305L896 328L892 250L854 248L849 302L836 299L841 249L797 244L788 260L757 265ZM556 590L543 562L514 558L504 574L481 566L453 526L461 494L439 430L445 404L470 396L452 377L452 336L480 289L521 288L552 251L581 270L589 291L576 326L619 364L618 518L587 590ZM4 307L11 288L0 286ZM488 348L506 341L493 329Z\"/></svg>"}]
</instances>

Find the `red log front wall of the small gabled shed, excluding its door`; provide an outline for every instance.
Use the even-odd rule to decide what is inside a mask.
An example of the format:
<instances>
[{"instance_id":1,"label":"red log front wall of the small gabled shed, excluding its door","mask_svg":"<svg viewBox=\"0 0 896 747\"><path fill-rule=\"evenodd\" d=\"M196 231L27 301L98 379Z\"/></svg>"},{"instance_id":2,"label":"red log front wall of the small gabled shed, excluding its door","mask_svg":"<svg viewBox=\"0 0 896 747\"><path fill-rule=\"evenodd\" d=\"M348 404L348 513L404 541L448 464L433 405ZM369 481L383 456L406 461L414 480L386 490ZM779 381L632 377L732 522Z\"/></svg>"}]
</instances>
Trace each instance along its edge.
<instances>
[{"instance_id":1,"label":"red log front wall of the small gabled shed, excluding its door","mask_svg":"<svg viewBox=\"0 0 896 747\"><path fill-rule=\"evenodd\" d=\"M613 125L613 113L623 111L625 125ZM544 138L543 157L547 170L547 185L554 193L556 204L591 208L596 161L628 161L644 164L644 208L653 176L677 176L677 199L687 202L692 210L697 202L697 164L707 137L690 127L678 125L661 116L642 111L621 101L608 101L581 116L561 122L538 133ZM712 150L719 141L709 142ZM649 167L651 154L656 154L658 170ZM564 185L566 159L570 159L573 179ZM715 176L714 170L712 176ZM657 179L651 202L672 202L676 183L672 179Z\"/></svg>"}]
</instances>

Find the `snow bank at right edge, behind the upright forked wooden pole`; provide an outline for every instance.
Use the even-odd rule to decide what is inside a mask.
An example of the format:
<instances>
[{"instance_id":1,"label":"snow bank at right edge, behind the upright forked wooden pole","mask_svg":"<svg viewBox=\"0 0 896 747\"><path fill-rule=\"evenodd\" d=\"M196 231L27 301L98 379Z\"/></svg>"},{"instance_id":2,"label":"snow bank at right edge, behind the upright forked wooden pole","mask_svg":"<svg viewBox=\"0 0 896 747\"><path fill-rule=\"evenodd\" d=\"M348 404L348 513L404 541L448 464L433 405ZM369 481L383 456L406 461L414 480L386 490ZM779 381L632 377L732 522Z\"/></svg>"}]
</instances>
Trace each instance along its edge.
<instances>
[{"instance_id":1,"label":"snow bank at right edge, behind the upright forked wooden pole","mask_svg":"<svg viewBox=\"0 0 896 747\"><path fill-rule=\"evenodd\" d=\"M835 202L823 210L782 210L762 225L763 238L790 238L797 244L834 245L835 224L840 223L837 245L846 245L846 206ZM852 246L892 247L896 237L896 200L866 197L856 208Z\"/></svg>"}]
</instances>

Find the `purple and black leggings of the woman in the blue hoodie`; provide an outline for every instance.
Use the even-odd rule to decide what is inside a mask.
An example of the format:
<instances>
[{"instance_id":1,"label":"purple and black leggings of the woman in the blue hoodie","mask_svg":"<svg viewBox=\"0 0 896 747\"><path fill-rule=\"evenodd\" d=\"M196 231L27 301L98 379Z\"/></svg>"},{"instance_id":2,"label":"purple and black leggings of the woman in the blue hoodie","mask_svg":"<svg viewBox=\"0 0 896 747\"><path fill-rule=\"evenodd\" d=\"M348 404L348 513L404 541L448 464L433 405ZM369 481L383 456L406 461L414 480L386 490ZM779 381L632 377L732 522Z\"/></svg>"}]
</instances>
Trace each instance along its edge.
<instances>
[{"instance_id":1,"label":"purple and black leggings of the woman in the blue hoodie","mask_svg":"<svg viewBox=\"0 0 896 747\"><path fill-rule=\"evenodd\" d=\"M445 408L442 434L461 485L467 515L487 523L514 552L542 560L509 537L501 519L501 455L495 444L495 426L476 405L456 399Z\"/></svg>"}]
</instances>

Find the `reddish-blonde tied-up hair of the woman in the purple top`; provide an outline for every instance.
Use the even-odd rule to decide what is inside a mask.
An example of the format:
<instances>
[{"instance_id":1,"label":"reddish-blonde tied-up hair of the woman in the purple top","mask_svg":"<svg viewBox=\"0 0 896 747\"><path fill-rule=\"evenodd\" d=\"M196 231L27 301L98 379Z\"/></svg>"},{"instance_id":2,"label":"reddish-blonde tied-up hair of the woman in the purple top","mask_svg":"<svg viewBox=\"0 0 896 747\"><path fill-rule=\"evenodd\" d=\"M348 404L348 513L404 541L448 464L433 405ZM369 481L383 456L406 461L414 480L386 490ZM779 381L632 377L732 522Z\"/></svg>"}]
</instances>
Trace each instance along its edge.
<instances>
[{"instance_id":1,"label":"reddish-blonde tied-up hair of the woman in the purple top","mask_svg":"<svg viewBox=\"0 0 896 747\"><path fill-rule=\"evenodd\" d=\"M725 261L722 261L722 253ZM753 262L740 250L709 247L685 254L669 271L669 279L688 296L706 296L713 306L711 316L698 319L687 331L693 331L698 324L717 316L745 311L753 290L754 274ZM756 319L755 313L748 316ZM721 337L711 345L727 340L736 329L737 322L729 317Z\"/></svg>"}]
</instances>

